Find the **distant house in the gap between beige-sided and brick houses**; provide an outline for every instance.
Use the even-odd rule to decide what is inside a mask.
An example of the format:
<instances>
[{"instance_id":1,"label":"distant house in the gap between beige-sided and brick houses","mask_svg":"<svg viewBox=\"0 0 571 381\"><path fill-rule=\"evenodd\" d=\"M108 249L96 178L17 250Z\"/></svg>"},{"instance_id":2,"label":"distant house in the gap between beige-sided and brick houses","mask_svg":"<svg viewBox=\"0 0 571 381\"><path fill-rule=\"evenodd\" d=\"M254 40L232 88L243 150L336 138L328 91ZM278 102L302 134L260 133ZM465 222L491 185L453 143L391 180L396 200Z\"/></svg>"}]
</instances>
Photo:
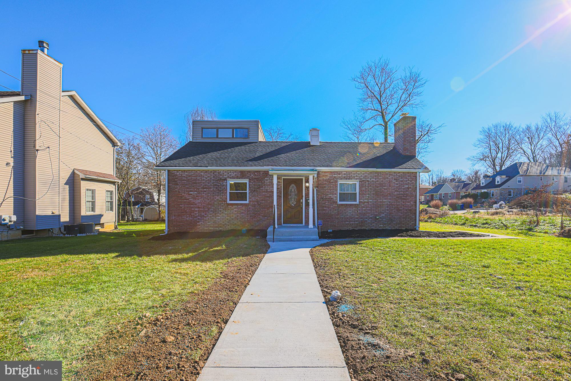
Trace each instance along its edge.
<instances>
[{"instance_id":1,"label":"distant house in the gap between beige-sided and brick houses","mask_svg":"<svg viewBox=\"0 0 571 381\"><path fill-rule=\"evenodd\" d=\"M143 221L160 219L155 193L143 187L125 191L121 202L121 219L125 220L127 217Z\"/></svg>"}]
</instances>

